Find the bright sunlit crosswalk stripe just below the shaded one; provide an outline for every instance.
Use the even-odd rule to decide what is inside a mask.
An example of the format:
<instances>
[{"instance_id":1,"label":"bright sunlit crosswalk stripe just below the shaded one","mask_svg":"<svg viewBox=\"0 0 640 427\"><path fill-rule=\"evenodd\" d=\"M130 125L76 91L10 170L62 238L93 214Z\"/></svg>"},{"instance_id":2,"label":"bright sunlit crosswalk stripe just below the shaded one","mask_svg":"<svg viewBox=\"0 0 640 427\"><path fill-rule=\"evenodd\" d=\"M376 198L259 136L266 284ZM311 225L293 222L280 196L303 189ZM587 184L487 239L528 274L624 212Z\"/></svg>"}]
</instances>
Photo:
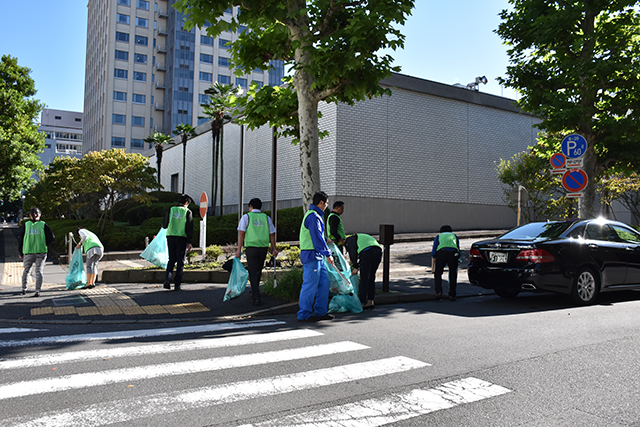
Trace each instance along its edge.
<instances>
[{"instance_id":1,"label":"bright sunlit crosswalk stripe just below the shaded one","mask_svg":"<svg viewBox=\"0 0 640 427\"><path fill-rule=\"evenodd\" d=\"M116 357L145 356L158 353L174 353L178 351L192 351L250 344L262 344L300 338L312 338L321 335L322 333L312 331L310 329L293 329L290 331L268 332L255 335L203 338L198 340L178 342L163 342L160 344L140 345L135 347L70 351L66 353L45 354L42 356L26 356L15 359L0 359L0 370L30 368L34 366L47 366L60 363L70 363L96 359L113 359Z\"/></svg>"}]
</instances>

